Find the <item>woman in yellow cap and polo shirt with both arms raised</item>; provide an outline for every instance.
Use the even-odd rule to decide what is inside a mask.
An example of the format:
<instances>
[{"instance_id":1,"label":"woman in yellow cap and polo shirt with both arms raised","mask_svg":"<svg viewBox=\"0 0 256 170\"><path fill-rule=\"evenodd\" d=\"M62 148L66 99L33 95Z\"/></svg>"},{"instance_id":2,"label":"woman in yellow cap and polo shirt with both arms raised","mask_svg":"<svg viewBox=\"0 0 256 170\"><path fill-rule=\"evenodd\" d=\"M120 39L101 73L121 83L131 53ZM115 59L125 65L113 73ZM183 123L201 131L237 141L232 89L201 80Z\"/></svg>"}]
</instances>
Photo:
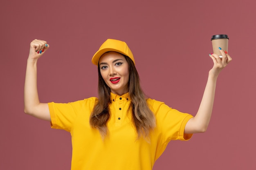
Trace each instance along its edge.
<instances>
[{"instance_id":1,"label":"woman in yellow cap and polo shirt with both arms raised","mask_svg":"<svg viewBox=\"0 0 256 170\"><path fill-rule=\"evenodd\" d=\"M72 170L152 170L171 140L189 140L207 130L217 77L232 60L211 54L202 102L193 117L146 99L139 84L135 60L125 42L108 39L92 57L98 66L99 97L68 104L40 103L36 63L49 48L43 40L30 44L25 78L25 113L51 122L72 136Z\"/></svg>"}]
</instances>

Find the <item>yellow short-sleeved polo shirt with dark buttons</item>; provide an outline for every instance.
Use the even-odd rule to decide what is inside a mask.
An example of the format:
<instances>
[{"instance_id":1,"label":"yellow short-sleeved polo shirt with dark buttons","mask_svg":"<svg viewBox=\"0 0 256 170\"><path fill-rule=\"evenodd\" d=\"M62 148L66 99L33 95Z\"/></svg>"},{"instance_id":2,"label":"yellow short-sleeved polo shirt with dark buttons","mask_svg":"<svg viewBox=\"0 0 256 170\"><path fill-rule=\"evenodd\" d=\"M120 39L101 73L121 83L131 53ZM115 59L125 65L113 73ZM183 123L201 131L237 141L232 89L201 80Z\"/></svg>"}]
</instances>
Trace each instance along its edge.
<instances>
[{"instance_id":1,"label":"yellow short-sleeved polo shirt with dark buttons","mask_svg":"<svg viewBox=\"0 0 256 170\"><path fill-rule=\"evenodd\" d=\"M137 139L132 114L127 111L129 94L111 93L111 100L109 135L104 140L89 124L96 97L68 104L48 104L52 128L67 130L72 136L71 170L152 170L169 141L188 140L192 136L184 134L186 122L192 115L147 99L155 114L156 128L150 141Z\"/></svg>"}]
</instances>

